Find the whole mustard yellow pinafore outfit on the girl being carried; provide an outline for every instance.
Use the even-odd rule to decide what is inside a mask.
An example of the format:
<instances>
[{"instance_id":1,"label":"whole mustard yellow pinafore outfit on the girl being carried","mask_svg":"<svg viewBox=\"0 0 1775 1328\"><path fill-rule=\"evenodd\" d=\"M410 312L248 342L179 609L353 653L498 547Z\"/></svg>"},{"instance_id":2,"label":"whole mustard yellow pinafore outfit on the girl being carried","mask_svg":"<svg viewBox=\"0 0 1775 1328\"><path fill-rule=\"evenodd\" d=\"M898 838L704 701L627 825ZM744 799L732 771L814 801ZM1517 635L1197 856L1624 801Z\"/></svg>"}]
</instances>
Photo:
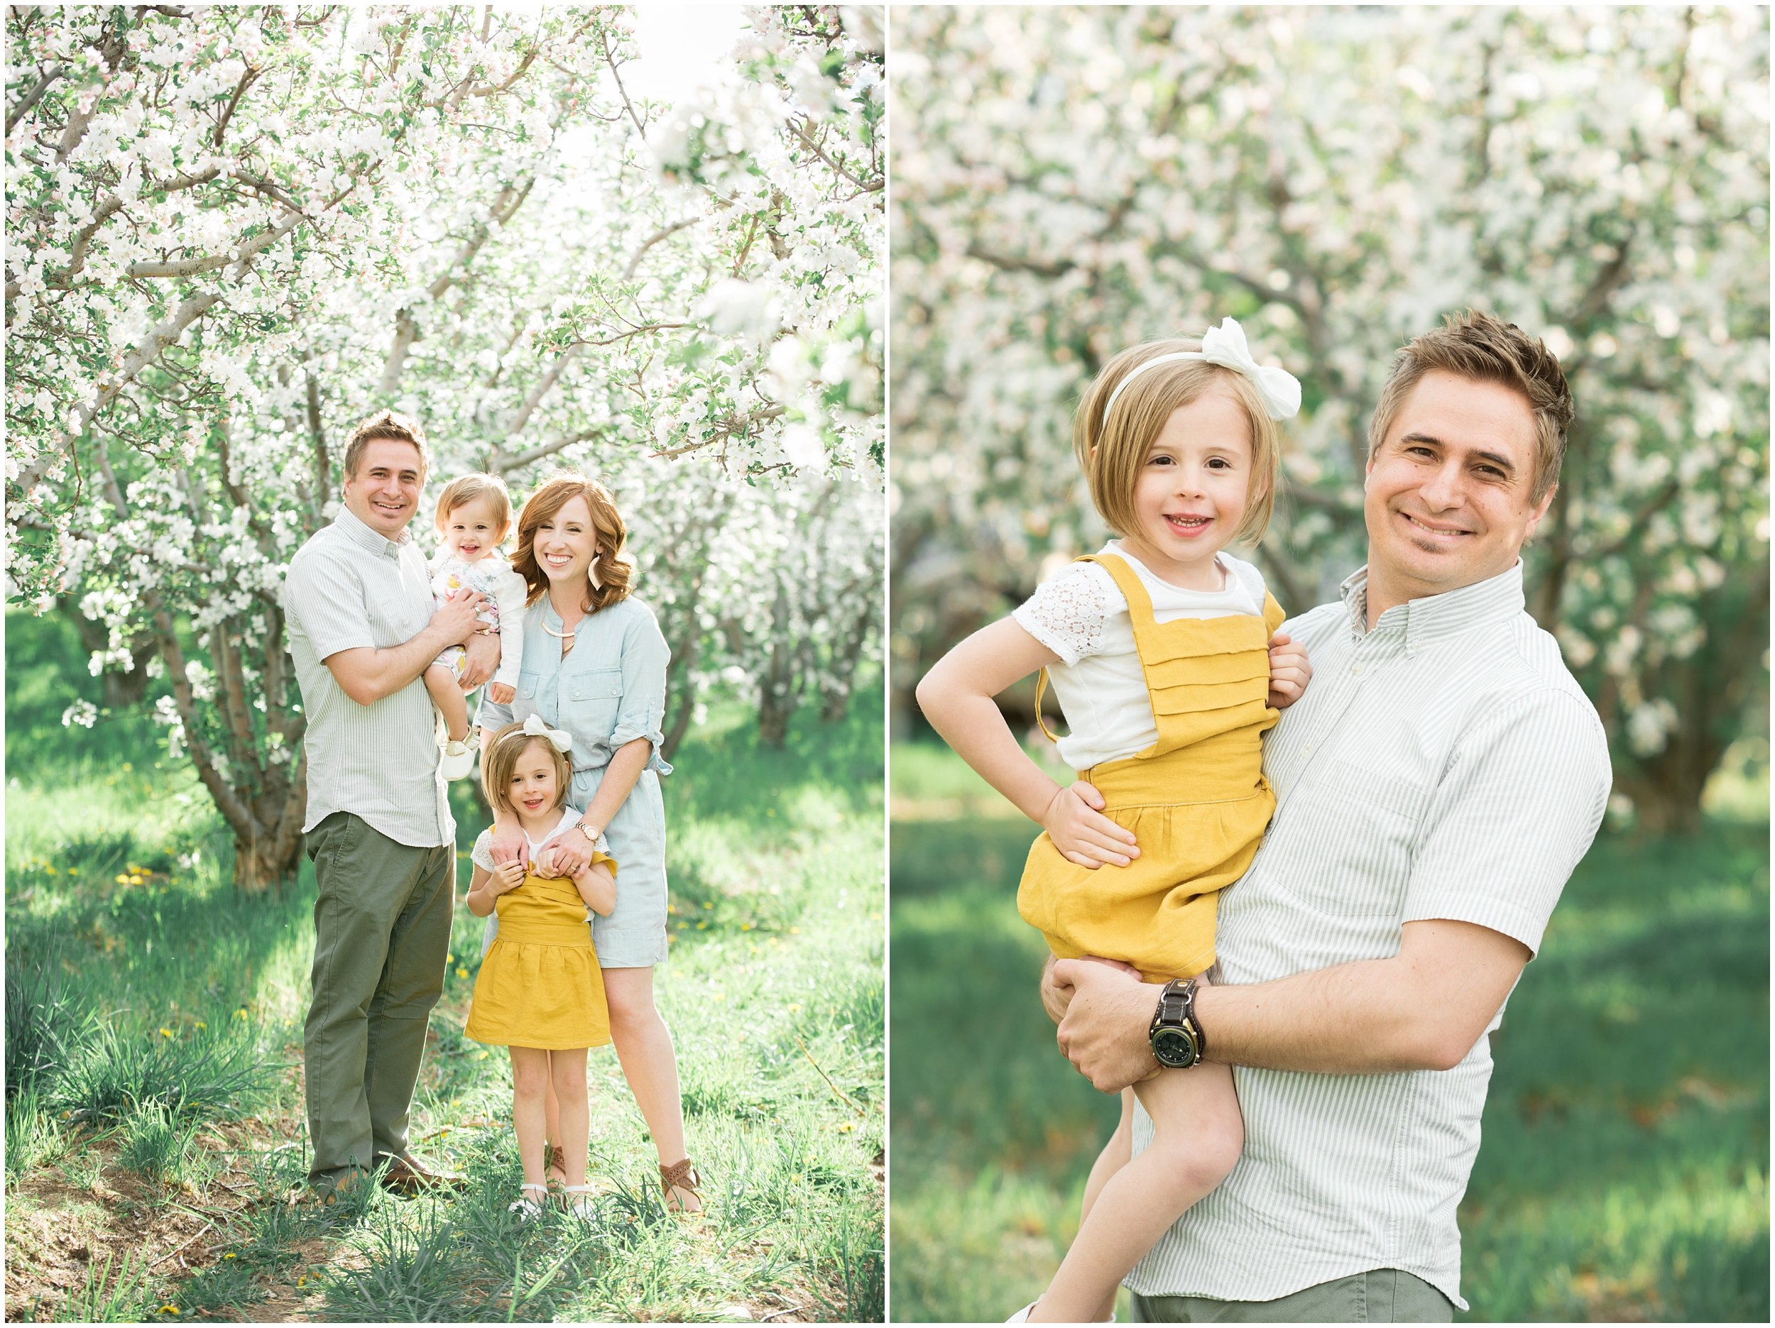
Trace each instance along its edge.
<instances>
[{"instance_id":1,"label":"whole mustard yellow pinafore outfit on the girl being carried","mask_svg":"<svg viewBox=\"0 0 1775 1328\"><path fill-rule=\"evenodd\" d=\"M1061 959L1118 959L1145 982L1191 978L1214 964L1218 891L1244 875L1276 810L1262 735L1280 717L1269 707L1269 637L1282 605L1266 593L1262 618L1161 623L1127 563L1079 561L1104 568L1127 598L1159 730L1145 751L1077 772L1104 795L1104 815L1134 833L1140 858L1093 872L1067 861L1044 831L1017 911Z\"/></svg>"}]
</instances>

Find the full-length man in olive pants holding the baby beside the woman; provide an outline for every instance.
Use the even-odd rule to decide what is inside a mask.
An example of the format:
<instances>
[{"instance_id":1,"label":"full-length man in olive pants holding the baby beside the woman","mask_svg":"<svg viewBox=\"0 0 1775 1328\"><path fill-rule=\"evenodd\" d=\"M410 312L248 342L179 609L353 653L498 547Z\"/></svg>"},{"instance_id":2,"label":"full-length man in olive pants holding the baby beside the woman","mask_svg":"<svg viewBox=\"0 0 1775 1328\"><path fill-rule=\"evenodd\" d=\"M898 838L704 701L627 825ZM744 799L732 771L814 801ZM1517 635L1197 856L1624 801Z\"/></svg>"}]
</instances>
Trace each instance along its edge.
<instances>
[{"instance_id":1,"label":"full-length man in olive pants holding the baby beside the woman","mask_svg":"<svg viewBox=\"0 0 1775 1328\"><path fill-rule=\"evenodd\" d=\"M467 644L463 685L477 685L499 666L499 637L477 634L474 591L433 611L431 577L406 533L426 465L415 421L383 410L359 424L344 453L344 506L284 579L309 721L302 829L320 897L302 1062L309 1184L325 1202L383 1163L383 1184L401 1193L442 1179L406 1152L456 886L456 822L421 675L446 646Z\"/></svg>"}]
</instances>

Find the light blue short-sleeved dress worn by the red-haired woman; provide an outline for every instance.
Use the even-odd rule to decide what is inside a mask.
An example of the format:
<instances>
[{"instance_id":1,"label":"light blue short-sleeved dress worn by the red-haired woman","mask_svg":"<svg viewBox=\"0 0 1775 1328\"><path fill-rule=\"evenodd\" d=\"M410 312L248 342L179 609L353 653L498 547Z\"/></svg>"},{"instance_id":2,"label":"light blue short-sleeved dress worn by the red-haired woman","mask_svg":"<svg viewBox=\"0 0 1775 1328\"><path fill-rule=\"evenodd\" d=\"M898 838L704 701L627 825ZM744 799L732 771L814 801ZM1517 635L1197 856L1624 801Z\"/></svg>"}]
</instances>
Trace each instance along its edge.
<instances>
[{"instance_id":1,"label":"light blue short-sleeved dress worn by the red-haired woman","mask_svg":"<svg viewBox=\"0 0 1775 1328\"><path fill-rule=\"evenodd\" d=\"M545 627L547 625L547 627ZM573 790L568 802L591 806L611 755L635 739L653 744L653 756L634 790L605 826L616 858L616 909L593 918L591 939L602 968L651 968L666 959L666 806L660 760L666 717L666 664L671 650L653 611L641 600L618 600L586 614L573 650L563 659L561 614L545 595L524 614L524 671L511 705L483 700L479 728L501 728L541 715L573 735ZM499 934L499 914L486 920L485 957Z\"/></svg>"}]
</instances>

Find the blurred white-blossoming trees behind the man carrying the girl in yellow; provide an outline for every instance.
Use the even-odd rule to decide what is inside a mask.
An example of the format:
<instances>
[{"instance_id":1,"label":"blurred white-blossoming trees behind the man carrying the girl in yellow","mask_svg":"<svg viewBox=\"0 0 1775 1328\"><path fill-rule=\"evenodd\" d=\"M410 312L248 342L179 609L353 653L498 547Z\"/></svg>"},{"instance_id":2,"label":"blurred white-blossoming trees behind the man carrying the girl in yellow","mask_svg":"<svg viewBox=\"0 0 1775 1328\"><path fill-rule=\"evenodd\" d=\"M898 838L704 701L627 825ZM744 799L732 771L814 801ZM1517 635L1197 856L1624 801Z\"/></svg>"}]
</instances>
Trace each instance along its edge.
<instances>
[{"instance_id":1,"label":"blurred white-blossoming trees behind the man carrying the girl in yellow","mask_svg":"<svg viewBox=\"0 0 1775 1328\"><path fill-rule=\"evenodd\" d=\"M1305 385L1257 550L1290 611L1363 561L1393 350L1468 305L1578 421L1528 605L1658 829L1766 684L1764 11L912 9L896 16L895 689L1102 536L1070 408L1241 318Z\"/></svg>"}]
</instances>

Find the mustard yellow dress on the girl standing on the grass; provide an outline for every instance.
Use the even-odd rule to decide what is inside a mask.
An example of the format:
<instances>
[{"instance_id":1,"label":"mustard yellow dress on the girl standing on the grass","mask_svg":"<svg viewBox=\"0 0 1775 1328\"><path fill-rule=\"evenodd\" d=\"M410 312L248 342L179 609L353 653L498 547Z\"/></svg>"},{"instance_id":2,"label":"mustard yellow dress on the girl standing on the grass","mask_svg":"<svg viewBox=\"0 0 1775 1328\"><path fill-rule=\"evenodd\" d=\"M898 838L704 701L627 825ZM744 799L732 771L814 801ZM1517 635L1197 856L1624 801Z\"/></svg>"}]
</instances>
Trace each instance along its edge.
<instances>
[{"instance_id":1,"label":"mustard yellow dress on the girl standing on the grass","mask_svg":"<svg viewBox=\"0 0 1775 1328\"><path fill-rule=\"evenodd\" d=\"M616 859L593 854L593 863ZM570 877L531 872L493 900L499 936L474 980L463 1033L501 1047L570 1051L611 1040L604 969L591 945L586 900Z\"/></svg>"}]
</instances>

